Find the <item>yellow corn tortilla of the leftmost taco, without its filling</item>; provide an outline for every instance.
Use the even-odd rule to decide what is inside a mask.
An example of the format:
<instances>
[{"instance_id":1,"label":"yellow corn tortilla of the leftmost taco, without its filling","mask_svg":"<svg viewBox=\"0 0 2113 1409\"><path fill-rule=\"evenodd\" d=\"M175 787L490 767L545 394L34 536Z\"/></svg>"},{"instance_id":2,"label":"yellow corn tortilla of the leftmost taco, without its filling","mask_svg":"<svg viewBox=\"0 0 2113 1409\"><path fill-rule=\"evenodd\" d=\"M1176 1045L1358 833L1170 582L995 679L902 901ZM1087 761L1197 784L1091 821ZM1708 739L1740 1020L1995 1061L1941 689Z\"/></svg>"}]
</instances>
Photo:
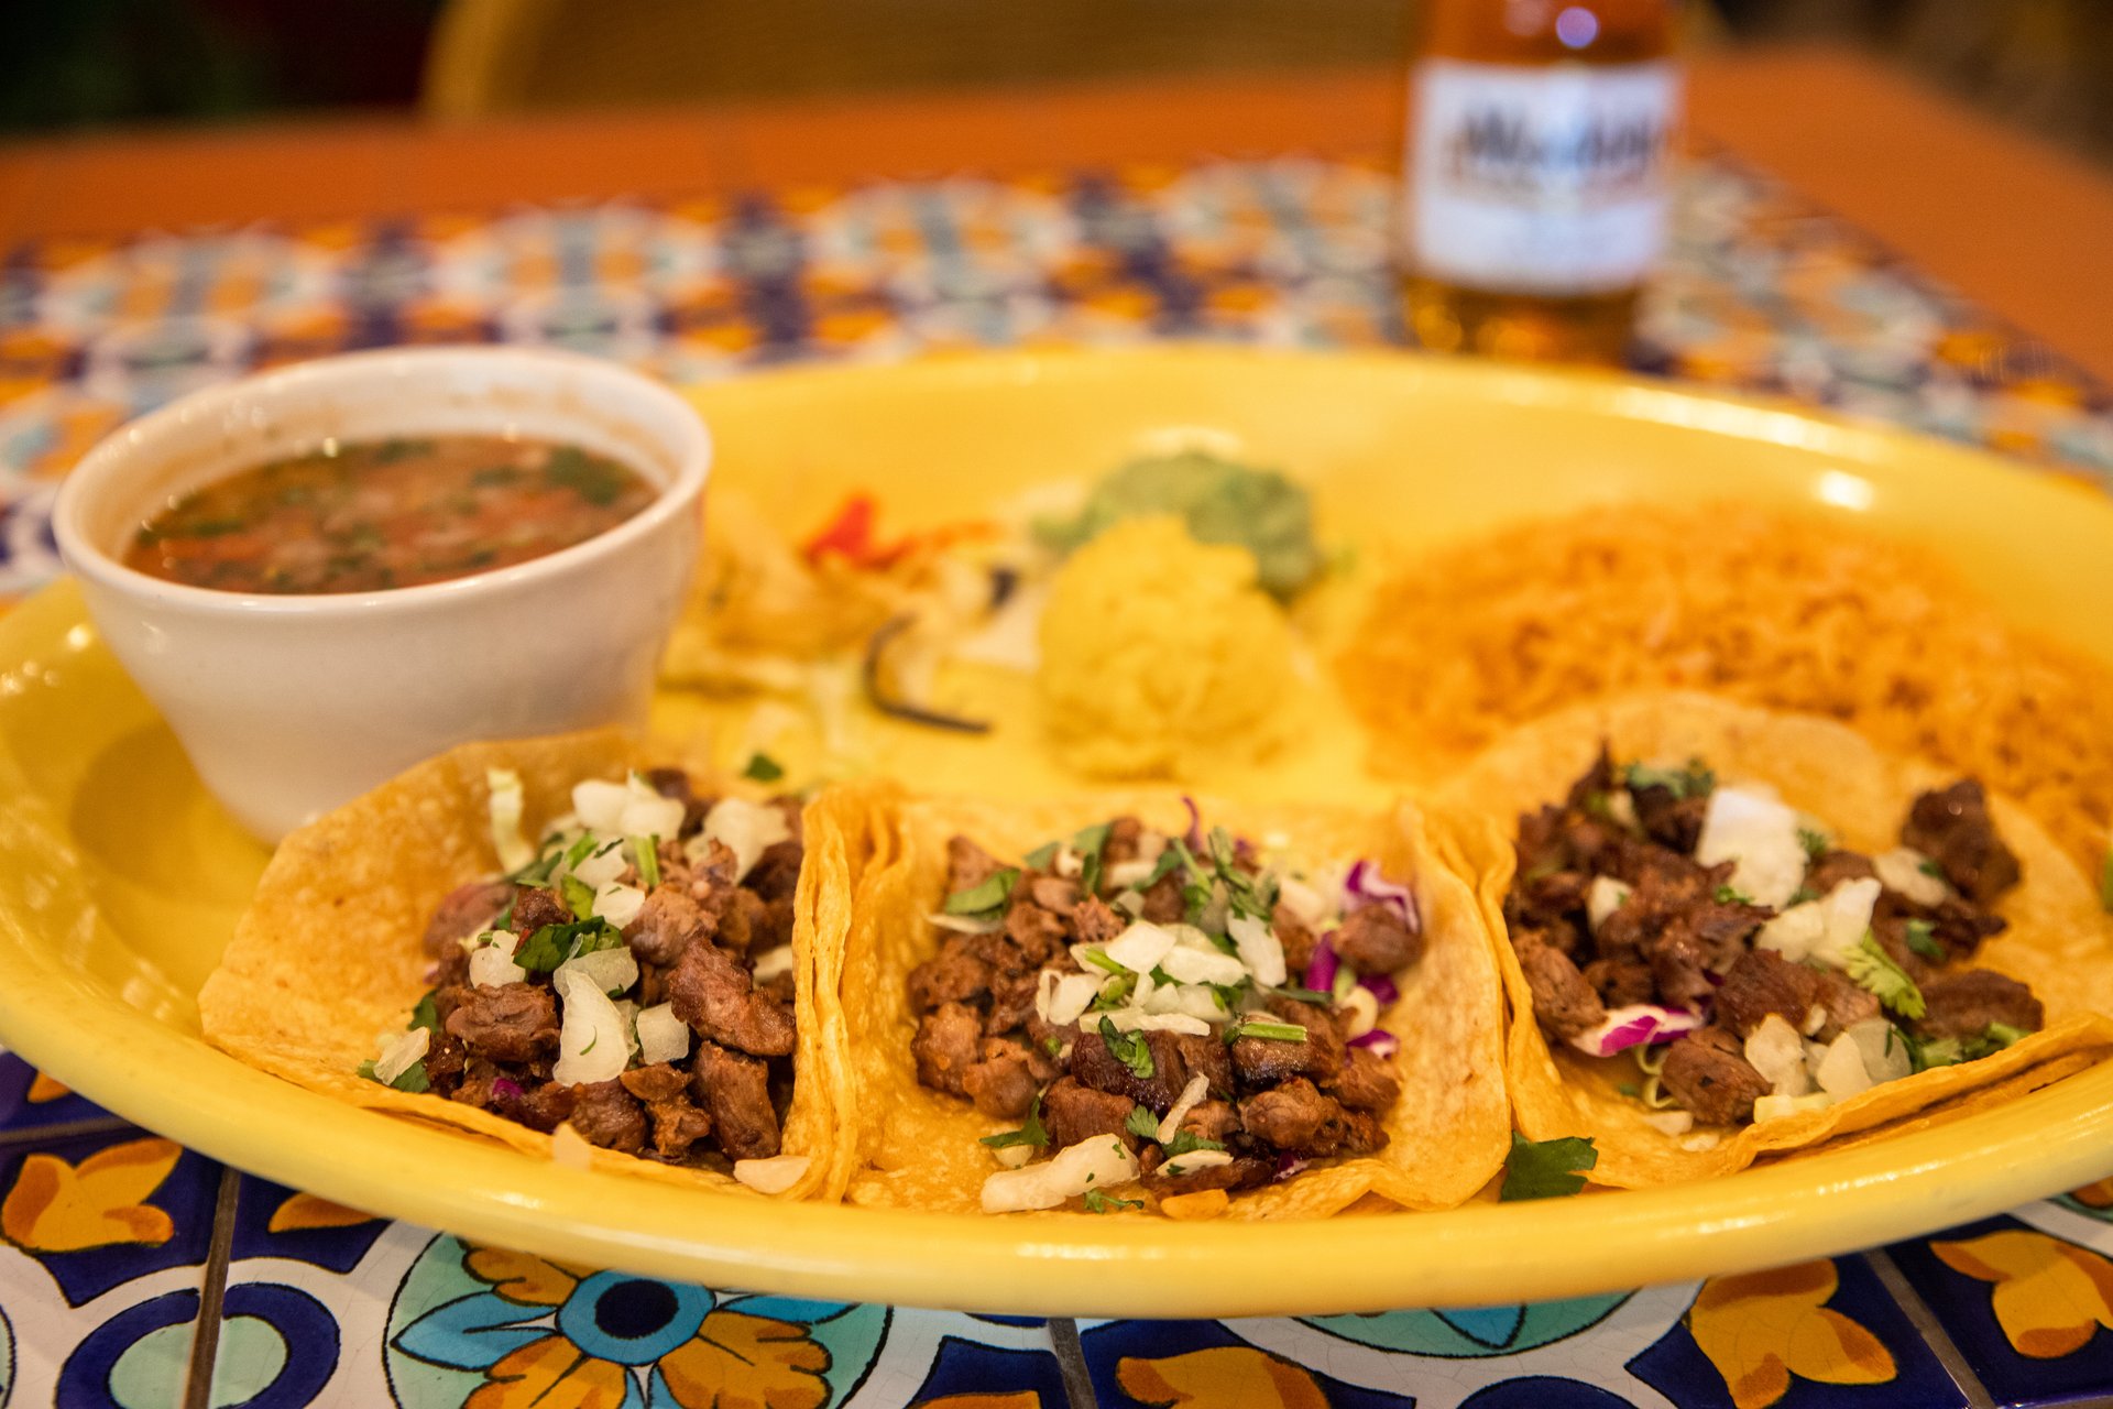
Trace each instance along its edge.
<instances>
[{"instance_id":1,"label":"yellow corn tortilla of the leftmost taco, without its filling","mask_svg":"<svg viewBox=\"0 0 2113 1409\"><path fill-rule=\"evenodd\" d=\"M551 1136L490 1111L433 1094L399 1092L357 1075L380 1033L404 1031L427 991L427 919L448 891L499 875L488 822L486 769L520 773L524 834L571 809L585 777L621 777L640 767L623 733L594 731L513 744L471 744L420 763L374 792L317 818L279 843L220 959L199 993L205 1037L298 1086L410 1120L463 1130L535 1158L551 1158ZM843 946L841 896L852 885L849 845L866 832L856 796L824 796L807 809L809 843L794 898L792 1107L784 1153L811 1164L784 1198L837 1198L843 1156L843 1063L824 1050L816 1006L818 951ZM847 826L843 818L849 815ZM835 927L833 927L835 925ZM592 1166L661 1183L744 1189L714 1168L657 1164L594 1149ZM835 1181L835 1183L833 1183Z\"/></svg>"}]
</instances>

